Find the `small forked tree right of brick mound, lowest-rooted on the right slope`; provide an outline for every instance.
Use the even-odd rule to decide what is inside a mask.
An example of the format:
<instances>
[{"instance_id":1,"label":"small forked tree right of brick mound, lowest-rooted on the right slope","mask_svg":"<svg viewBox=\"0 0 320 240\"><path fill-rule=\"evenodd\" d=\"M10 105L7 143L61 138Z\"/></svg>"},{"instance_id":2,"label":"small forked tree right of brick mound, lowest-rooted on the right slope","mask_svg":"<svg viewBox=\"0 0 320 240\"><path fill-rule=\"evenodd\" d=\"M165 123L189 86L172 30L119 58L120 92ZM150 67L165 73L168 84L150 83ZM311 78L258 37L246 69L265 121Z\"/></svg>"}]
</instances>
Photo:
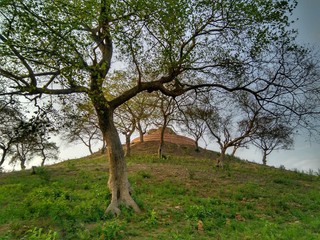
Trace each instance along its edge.
<instances>
[{"instance_id":1,"label":"small forked tree right of brick mound, lowest-rooted on the right slope","mask_svg":"<svg viewBox=\"0 0 320 240\"><path fill-rule=\"evenodd\" d=\"M233 154L239 147L244 147L257 128L257 117L262 111L261 106L256 105L248 94L234 94L231 98L219 95L224 103L217 109L209 105L204 121L208 127L209 136L214 138L220 147L220 156L217 166L223 167L228 148L233 147ZM216 100L219 101L219 100ZM209 113L209 114L208 114Z\"/></svg>"}]
</instances>

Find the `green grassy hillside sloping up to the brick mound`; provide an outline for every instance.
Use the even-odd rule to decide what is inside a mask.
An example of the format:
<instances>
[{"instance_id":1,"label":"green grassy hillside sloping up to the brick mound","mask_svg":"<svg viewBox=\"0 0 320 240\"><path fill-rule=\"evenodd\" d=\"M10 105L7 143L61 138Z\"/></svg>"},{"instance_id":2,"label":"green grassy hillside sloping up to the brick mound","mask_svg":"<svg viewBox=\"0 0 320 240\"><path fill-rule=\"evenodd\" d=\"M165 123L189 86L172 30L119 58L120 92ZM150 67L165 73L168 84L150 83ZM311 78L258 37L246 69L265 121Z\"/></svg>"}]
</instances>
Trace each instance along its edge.
<instances>
[{"instance_id":1,"label":"green grassy hillside sloping up to the brick mound","mask_svg":"<svg viewBox=\"0 0 320 240\"><path fill-rule=\"evenodd\" d=\"M320 178L167 144L127 159L141 214L105 216L105 156L0 174L0 239L320 239Z\"/></svg>"}]
</instances>

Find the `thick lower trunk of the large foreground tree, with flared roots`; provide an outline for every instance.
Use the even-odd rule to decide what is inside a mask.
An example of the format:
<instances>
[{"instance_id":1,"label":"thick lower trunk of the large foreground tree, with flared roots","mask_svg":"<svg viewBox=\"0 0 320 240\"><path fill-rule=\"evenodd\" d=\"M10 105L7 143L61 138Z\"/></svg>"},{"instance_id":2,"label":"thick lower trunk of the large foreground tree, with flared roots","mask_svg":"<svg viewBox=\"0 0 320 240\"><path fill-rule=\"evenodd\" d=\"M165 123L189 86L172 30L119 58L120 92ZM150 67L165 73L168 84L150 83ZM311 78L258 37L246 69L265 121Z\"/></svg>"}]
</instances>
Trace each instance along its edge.
<instances>
[{"instance_id":1,"label":"thick lower trunk of the large foreground tree, with flared roots","mask_svg":"<svg viewBox=\"0 0 320 240\"><path fill-rule=\"evenodd\" d=\"M113 111L104 108L97 111L99 124L107 144L107 154L109 157L109 181L108 186L111 192L111 203L106 213L120 214L119 206L122 204L132 207L136 212L140 208L130 195L130 184L128 181L127 165L124 158L124 151L120 137L113 122Z\"/></svg>"}]
</instances>

